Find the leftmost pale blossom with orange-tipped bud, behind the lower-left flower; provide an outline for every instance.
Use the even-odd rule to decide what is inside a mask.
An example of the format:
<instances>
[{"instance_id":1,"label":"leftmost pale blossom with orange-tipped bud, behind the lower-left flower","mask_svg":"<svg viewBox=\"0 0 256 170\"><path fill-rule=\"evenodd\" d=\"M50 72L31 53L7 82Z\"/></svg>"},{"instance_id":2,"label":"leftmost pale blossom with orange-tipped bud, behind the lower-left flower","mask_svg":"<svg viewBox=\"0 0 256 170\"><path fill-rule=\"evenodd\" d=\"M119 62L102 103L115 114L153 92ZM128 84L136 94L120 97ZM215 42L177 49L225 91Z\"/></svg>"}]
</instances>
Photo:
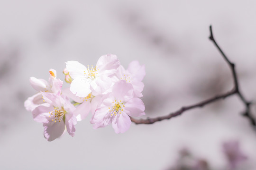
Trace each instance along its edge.
<instances>
[{"instance_id":1,"label":"leftmost pale blossom with orange-tipped bud, behind the lower-left flower","mask_svg":"<svg viewBox=\"0 0 256 170\"><path fill-rule=\"evenodd\" d=\"M37 106L45 102L40 92L60 93L63 81L56 78L57 74L55 69L50 69L49 75L48 82L44 79L30 77L30 84L38 93L28 97L24 102L24 106L28 111L34 110Z\"/></svg>"}]
</instances>

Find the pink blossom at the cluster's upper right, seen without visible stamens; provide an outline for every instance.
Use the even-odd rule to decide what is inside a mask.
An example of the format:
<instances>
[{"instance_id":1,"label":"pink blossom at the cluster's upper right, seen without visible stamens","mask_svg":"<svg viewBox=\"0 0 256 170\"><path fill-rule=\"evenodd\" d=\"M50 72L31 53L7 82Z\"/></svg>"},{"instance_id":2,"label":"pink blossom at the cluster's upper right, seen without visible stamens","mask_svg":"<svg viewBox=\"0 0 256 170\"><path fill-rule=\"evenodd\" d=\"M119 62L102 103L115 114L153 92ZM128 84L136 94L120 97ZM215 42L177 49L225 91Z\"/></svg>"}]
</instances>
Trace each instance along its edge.
<instances>
[{"instance_id":1,"label":"pink blossom at the cluster's upper right, seen without visible stamens","mask_svg":"<svg viewBox=\"0 0 256 170\"><path fill-rule=\"evenodd\" d=\"M144 84L141 82L146 75L145 66L140 65L138 61L130 62L128 69L120 65L116 76L119 80L126 80L126 82L131 83L134 89L135 96L142 97L142 90L144 88Z\"/></svg>"}]
</instances>

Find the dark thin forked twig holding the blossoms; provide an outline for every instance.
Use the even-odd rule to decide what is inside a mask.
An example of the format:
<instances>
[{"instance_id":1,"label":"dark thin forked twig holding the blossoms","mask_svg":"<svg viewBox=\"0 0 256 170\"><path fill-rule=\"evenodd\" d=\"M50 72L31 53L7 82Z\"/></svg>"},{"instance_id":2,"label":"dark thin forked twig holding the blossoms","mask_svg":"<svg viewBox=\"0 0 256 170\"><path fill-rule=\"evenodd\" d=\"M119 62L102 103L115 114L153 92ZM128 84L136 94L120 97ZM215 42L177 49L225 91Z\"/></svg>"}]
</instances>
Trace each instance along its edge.
<instances>
[{"instance_id":1,"label":"dark thin forked twig holding the blossoms","mask_svg":"<svg viewBox=\"0 0 256 170\"><path fill-rule=\"evenodd\" d=\"M231 72L232 72L232 76L233 76L233 80L234 80L234 88L228 92L228 93L223 93L220 95L217 95L215 97L212 97L210 99L204 100L202 102L190 105L190 106L185 106L182 107L181 109L174 111L168 115L165 116L160 116L160 117L156 117L156 118L147 118L147 119L134 119L132 117L131 121L134 122L135 124L153 124L157 121L161 121L161 120L165 120L165 119L171 119L173 117L179 116L181 115L184 111L186 110L191 110L194 108L199 108L199 107L203 107L204 105L210 104L211 102L216 102L219 99L225 99L226 97L229 97L233 94L238 94L239 98L241 99L241 101L245 104L246 110L243 113L243 115L250 120L251 124L255 127L256 126L256 121L253 118L251 112L250 112L250 105L251 102L248 102L245 97L242 95L242 93L239 90L239 84L238 84L238 76L237 76L237 72L235 69L235 64L232 63L227 56L225 55L225 53L220 49L219 45L217 44L217 42L215 41L213 34L212 34L212 28L210 26L210 37L209 39L214 43L214 45L218 48L219 52L221 53L222 57L224 58L224 60L227 62L227 64L229 65Z\"/></svg>"}]
</instances>

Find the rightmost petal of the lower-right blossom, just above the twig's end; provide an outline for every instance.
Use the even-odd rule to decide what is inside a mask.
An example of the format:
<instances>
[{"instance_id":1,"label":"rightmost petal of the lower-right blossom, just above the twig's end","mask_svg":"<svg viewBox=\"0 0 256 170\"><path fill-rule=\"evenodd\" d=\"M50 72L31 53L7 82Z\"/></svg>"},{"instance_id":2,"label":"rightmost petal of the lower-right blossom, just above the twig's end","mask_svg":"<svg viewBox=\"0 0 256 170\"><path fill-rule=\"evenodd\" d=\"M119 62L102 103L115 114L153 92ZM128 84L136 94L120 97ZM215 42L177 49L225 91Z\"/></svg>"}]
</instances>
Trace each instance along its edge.
<instances>
[{"instance_id":1,"label":"rightmost petal of the lower-right blossom, just above the twig's end","mask_svg":"<svg viewBox=\"0 0 256 170\"><path fill-rule=\"evenodd\" d=\"M139 98L132 98L128 102L125 103L125 110L128 110L127 113L129 116L139 117L145 115L145 105Z\"/></svg>"}]
</instances>

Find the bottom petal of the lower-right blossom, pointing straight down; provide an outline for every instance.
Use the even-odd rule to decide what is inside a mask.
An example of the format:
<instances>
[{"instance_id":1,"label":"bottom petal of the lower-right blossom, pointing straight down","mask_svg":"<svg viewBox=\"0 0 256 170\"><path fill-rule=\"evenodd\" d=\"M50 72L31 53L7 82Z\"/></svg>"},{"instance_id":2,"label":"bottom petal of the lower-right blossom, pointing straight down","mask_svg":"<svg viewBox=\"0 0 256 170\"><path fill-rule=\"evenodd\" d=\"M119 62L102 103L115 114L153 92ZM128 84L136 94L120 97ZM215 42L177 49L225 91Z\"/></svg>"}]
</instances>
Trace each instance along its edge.
<instances>
[{"instance_id":1,"label":"bottom petal of the lower-right blossom, pointing straight down","mask_svg":"<svg viewBox=\"0 0 256 170\"><path fill-rule=\"evenodd\" d=\"M112 121L112 127L116 133L126 132L131 125L131 119L126 113L121 113L117 115Z\"/></svg>"}]
</instances>

